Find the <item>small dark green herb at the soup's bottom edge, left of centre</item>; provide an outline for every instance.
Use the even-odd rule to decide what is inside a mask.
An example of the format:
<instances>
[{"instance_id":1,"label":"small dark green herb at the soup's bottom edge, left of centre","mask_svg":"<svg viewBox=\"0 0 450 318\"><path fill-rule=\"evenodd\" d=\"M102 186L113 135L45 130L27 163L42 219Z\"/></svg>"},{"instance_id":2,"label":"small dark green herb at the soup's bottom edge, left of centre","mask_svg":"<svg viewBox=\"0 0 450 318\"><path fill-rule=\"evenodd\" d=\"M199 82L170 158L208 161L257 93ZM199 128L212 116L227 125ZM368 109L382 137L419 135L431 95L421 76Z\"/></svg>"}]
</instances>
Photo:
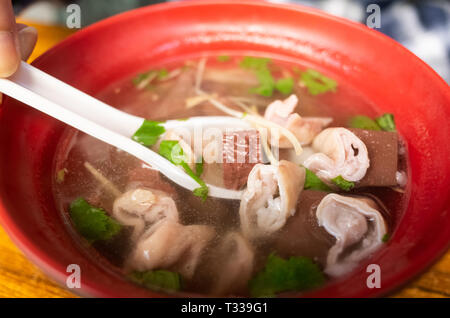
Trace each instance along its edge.
<instances>
[{"instance_id":1,"label":"small dark green herb at the soup's bottom edge, left of centre","mask_svg":"<svg viewBox=\"0 0 450 318\"><path fill-rule=\"evenodd\" d=\"M167 291L178 291L181 289L182 281L178 273L167 270L154 270L130 274L130 279L135 283L149 289L163 289Z\"/></svg>"}]
</instances>

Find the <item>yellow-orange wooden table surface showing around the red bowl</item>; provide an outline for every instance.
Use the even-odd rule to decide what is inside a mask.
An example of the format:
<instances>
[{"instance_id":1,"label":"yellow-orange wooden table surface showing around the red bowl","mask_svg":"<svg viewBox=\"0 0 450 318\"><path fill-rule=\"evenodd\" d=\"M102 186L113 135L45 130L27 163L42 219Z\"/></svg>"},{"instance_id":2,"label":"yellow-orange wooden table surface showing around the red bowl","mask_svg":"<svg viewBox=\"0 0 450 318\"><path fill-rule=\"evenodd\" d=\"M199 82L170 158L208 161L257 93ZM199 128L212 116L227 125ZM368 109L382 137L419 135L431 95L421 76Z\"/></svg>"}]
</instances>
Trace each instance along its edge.
<instances>
[{"instance_id":1,"label":"yellow-orange wooden table surface showing around the red bowl","mask_svg":"<svg viewBox=\"0 0 450 318\"><path fill-rule=\"evenodd\" d=\"M30 24L30 23L29 23ZM71 31L54 26L39 26L39 40L33 60ZM450 251L420 277L392 297L450 297ZM46 277L9 239L0 227L0 297L76 297Z\"/></svg>"}]
</instances>

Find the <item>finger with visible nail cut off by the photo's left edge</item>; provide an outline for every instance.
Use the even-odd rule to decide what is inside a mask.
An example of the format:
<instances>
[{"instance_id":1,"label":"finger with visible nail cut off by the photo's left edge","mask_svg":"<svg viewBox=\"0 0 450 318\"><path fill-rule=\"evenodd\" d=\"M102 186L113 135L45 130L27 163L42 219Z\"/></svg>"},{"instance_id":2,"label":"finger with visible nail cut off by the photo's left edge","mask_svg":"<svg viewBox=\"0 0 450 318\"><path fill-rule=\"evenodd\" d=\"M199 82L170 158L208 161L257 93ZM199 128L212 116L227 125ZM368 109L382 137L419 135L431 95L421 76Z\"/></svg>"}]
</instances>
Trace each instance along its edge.
<instances>
[{"instance_id":1,"label":"finger with visible nail cut off by the photo's left edge","mask_svg":"<svg viewBox=\"0 0 450 318\"><path fill-rule=\"evenodd\" d=\"M0 0L0 77L12 75L20 63L16 22L10 0Z\"/></svg>"}]
</instances>

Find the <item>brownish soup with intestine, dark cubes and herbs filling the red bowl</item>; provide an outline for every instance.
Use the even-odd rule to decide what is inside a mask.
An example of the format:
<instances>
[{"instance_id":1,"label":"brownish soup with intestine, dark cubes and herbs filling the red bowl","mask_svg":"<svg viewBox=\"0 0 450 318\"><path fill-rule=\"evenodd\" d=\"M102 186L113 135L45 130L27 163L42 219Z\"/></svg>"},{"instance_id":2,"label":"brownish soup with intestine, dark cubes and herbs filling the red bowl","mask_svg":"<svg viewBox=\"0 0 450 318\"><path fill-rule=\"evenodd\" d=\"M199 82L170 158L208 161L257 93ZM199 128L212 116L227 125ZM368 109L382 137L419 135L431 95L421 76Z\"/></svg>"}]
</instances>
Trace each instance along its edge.
<instances>
[{"instance_id":1,"label":"brownish soup with intestine, dark cubes and herbs filling the red bowl","mask_svg":"<svg viewBox=\"0 0 450 318\"><path fill-rule=\"evenodd\" d=\"M137 74L99 97L147 118L133 139L198 183L188 191L68 129L54 172L59 206L85 248L130 281L215 296L307 291L389 239L407 155L393 116L345 81L216 56ZM203 131L197 147L161 123L193 116L233 116L246 128L215 127L215 139ZM208 184L242 197L210 197Z\"/></svg>"}]
</instances>

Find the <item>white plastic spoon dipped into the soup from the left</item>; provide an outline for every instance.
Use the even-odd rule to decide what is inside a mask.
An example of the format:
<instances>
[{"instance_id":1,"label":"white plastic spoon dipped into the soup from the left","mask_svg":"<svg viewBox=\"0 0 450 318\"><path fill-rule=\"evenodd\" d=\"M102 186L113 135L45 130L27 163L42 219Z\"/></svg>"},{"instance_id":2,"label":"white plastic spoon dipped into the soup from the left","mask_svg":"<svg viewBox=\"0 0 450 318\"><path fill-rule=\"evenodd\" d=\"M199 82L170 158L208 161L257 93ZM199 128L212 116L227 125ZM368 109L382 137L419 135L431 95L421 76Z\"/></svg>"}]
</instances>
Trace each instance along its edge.
<instances>
[{"instance_id":1,"label":"white plastic spoon dipped into the soup from the left","mask_svg":"<svg viewBox=\"0 0 450 318\"><path fill-rule=\"evenodd\" d=\"M0 92L128 152L183 188L193 191L199 187L198 183L170 161L131 139L144 122L142 117L113 108L24 62L14 75L0 79ZM249 127L242 120L225 116L193 117L186 121L170 120L164 125L167 128ZM210 184L208 188L208 195L218 198L238 200L242 194L242 191Z\"/></svg>"}]
</instances>

